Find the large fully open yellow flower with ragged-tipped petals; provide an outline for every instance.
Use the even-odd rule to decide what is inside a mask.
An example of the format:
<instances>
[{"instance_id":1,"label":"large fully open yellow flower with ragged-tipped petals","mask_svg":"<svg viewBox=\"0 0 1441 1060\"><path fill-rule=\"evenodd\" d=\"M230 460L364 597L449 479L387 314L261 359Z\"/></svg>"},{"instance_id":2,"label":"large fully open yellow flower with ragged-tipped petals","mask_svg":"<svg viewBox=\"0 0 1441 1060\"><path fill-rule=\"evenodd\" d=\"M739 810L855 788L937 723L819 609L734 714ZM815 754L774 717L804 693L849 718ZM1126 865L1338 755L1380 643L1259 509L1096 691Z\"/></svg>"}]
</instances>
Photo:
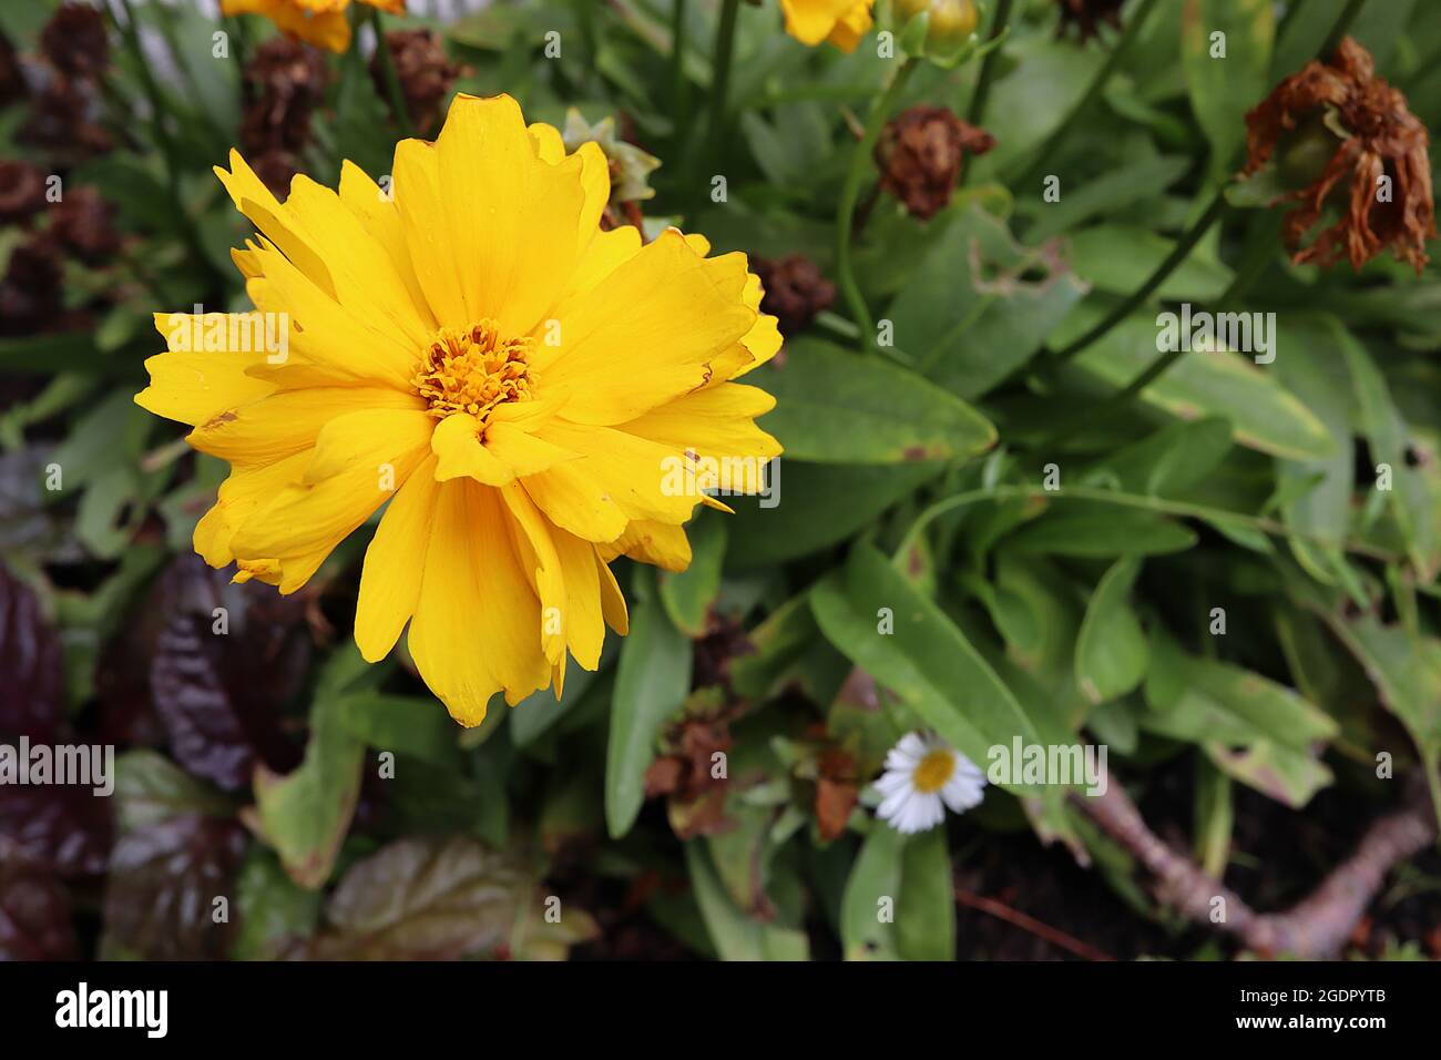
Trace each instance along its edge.
<instances>
[{"instance_id":1,"label":"large fully open yellow flower with ragged-tipped petals","mask_svg":"<svg viewBox=\"0 0 1441 1060\"><path fill-rule=\"evenodd\" d=\"M393 193L347 162L339 195L297 176L281 203L232 151L216 173L259 229L232 251L256 313L157 314L169 352L135 401L229 461L195 547L238 580L300 588L389 500L356 642L379 661L409 622L425 682L474 725L624 635L608 560L689 564L682 524L723 508L690 472L755 486L774 399L731 379L781 339L744 254L601 231L605 156L566 156L510 97L457 97L393 170Z\"/></svg>"}]
</instances>

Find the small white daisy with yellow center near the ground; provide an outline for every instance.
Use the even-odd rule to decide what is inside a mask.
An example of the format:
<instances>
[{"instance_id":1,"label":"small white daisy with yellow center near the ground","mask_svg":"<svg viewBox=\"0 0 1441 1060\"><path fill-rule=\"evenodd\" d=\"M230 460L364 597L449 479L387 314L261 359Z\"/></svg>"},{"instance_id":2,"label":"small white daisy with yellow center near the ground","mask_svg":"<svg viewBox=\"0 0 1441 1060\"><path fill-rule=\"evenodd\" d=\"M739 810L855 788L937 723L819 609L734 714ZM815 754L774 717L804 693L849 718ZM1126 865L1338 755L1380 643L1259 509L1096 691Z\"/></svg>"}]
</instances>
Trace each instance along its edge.
<instances>
[{"instance_id":1,"label":"small white daisy with yellow center near the ground","mask_svg":"<svg viewBox=\"0 0 1441 1060\"><path fill-rule=\"evenodd\" d=\"M876 780L880 806L876 815L906 835L935 828L945 806L964 813L984 798L986 774L964 754L935 736L906 733L886 753L886 767Z\"/></svg>"}]
</instances>

